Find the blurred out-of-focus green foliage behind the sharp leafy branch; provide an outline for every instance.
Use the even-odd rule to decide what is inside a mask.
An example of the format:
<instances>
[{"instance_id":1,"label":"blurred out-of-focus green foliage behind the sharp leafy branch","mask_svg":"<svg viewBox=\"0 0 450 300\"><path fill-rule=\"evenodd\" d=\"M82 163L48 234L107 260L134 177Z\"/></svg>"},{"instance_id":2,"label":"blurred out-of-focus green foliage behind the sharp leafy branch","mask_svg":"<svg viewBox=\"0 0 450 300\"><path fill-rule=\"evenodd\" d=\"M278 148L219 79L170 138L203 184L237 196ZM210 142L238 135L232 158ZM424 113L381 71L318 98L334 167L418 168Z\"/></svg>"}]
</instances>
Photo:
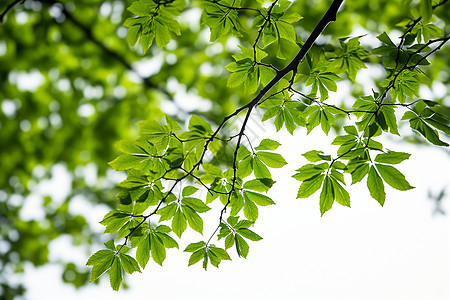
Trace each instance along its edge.
<instances>
[{"instance_id":1,"label":"blurred out-of-focus green foliage behind the sharp leafy branch","mask_svg":"<svg viewBox=\"0 0 450 300\"><path fill-rule=\"evenodd\" d=\"M191 2L191 6L200 7L199 1ZM243 2L247 7L254 5L253 0ZM292 10L303 16L297 33L308 36L330 2L294 1ZM347 1L314 51L333 46L337 39L330 40L330 36L347 37L359 29L376 35L398 29L397 24L410 17L400 9L401 2ZM201 10L194 7L182 11L181 35L174 35L164 52L153 45L143 56L139 46L128 46L122 26L132 15L126 11L131 3L0 2L0 13L5 12L0 25L2 299L23 294L24 287L10 283L8 277L30 264L60 263L64 282L77 288L88 282L87 270L77 263L53 261L49 245L58 237L70 236L87 256L87 246L100 240L85 216L72 212L70 204L82 195L91 205L102 205L105 210L116 205L114 177L107 162L118 154L113 147L116 141L137 136L138 120L158 120L164 111L183 121L198 112L218 123L249 101L242 89L226 86L229 73L224 66L232 61L230 52L239 51L236 39L245 45L255 36L223 35L219 43L211 44L208 29L198 25ZM441 20L450 19L448 4L434 13ZM250 13L240 16L242 26L250 26L252 20ZM269 48L269 57L275 57L277 50ZM285 49L285 55L296 51L294 47ZM448 52L448 47L437 52L433 67L424 68L430 78L425 84L437 80L448 88ZM379 63L370 57L366 60ZM283 67L278 60L269 63ZM361 95L358 88L352 90L353 97ZM443 103L443 99L435 100ZM441 113L448 116L448 106L443 107ZM414 137L409 140L418 142ZM55 165L63 166L69 174L70 190L62 200L39 188L55 179ZM89 166L94 166L94 180L85 177ZM24 207L33 197L40 199L41 205L35 215L25 214Z\"/></svg>"}]
</instances>

